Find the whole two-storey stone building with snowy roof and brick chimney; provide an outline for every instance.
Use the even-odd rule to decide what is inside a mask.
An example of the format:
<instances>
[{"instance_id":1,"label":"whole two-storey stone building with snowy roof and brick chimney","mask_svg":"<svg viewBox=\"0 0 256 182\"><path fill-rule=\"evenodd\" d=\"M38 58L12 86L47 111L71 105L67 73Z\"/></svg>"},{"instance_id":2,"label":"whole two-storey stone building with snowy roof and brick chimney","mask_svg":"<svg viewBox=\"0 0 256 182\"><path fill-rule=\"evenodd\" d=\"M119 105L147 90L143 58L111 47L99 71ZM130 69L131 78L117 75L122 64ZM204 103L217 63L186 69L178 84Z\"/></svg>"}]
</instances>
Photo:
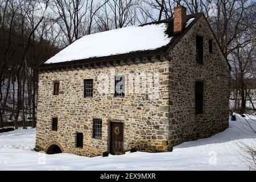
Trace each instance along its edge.
<instances>
[{"instance_id":1,"label":"whole two-storey stone building with snowy roof and brick chimney","mask_svg":"<svg viewBox=\"0 0 256 182\"><path fill-rule=\"evenodd\" d=\"M229 73L204 14L183 6L174 18L86 35L39 67L35 149L164 152L209 137L228 127Z\"/></svg>"}]
</instances>

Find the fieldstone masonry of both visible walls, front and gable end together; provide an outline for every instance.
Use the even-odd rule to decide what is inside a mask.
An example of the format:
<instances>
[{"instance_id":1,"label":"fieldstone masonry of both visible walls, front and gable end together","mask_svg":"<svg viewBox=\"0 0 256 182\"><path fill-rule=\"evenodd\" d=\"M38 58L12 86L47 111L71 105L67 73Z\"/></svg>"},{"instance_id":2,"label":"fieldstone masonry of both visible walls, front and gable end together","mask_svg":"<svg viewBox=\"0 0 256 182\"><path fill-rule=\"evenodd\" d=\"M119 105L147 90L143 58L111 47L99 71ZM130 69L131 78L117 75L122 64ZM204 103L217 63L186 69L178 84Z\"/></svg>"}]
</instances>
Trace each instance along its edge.
<instances>
[{"instance_id":1,"label":"fieldstone masonry of both visible walls, front and gable end together","mask_svg":"<svg viewBox=\"0 0 256 182\"><path fill-rule=\"evenodd\" d=\"M204 36L204 64L196 63L196 35ZM213 40L213 53L208 40ZM170 60L39 73L36 150L47 151L54 143L61 151L84 156L109 150L109 123L124 124L124 150L170 151L187 140L209 137L228 127L229 68L214 42L203 16L170 51ZM154 60L155 57L153 56ZM159 74L159 98L148 100L144 93L100 94L97 76L129 73ZM84 98L84 79L93 79L93 98ZM134 79L134 78L133 78ZM204 114L195 114L195 81L203 80ZM60 94L53 96L53 81L60 82ZM114 89L114 88L113 88ZM58 118L57 131L51 130ZM93 138L93 118L102 119L102 138ZM83 148L76 148L76 133L83 133Z\"/></svg>"}]
</instances>

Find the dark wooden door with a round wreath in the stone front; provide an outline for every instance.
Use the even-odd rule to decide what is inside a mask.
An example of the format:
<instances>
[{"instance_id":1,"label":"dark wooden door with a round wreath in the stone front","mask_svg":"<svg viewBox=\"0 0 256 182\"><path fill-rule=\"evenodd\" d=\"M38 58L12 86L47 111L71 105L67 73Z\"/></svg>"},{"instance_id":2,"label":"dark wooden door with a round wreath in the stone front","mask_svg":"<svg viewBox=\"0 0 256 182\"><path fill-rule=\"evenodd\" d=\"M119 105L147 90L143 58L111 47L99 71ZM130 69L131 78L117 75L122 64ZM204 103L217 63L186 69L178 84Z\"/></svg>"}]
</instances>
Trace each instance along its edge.
<instances>
[{"instance_id":1,"label":"dark wooden door with a round wreath in the stone front","mask_svg":"<svg viewBox=\"0 0 256 182\"><path fill-rule=\"evenodd\" d=\"M123 123L112 122L110 129L110 154L123 154Z\"/></svg>"}]
</instances>

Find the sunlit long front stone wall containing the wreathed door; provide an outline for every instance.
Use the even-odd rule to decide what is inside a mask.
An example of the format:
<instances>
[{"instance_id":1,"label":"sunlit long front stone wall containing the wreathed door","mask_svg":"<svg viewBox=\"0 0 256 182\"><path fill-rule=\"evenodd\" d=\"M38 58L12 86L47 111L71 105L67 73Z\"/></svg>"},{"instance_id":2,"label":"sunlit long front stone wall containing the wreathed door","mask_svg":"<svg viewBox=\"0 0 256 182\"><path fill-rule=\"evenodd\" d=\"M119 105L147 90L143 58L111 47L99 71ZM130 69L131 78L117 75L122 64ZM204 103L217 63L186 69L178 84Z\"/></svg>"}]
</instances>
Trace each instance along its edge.
<instances>
[{"instance_id":1,"label":"sunlit long front stone wall containing the wreathed door","mask_svg":"<svg viewBox=\"0 0 256 182\"><path fill-rule=\"evenodd\" d=\"M154 63L39 73L36 149L47 151L48 143L56 141L63 152L101 155L109 150L108 126L112 121L124 123L125 151L133 147L141 151L167 151L168 61L163 56L161 59ZM125 98L114 97L114 93L100 94L97 76L110 76L113 69L115 75L126 76L126 83L129 73L158 73L159 98L148 100L144 93L126 93ZM84 98L84 79L93 79L93 98ZM54 81L60 81L59 96L53 96ZM58 118L57 131L51 131L53 117ZM93 138L93 118L102 119L101 139ZM84 135L83 148L76 148L76 133Z\"/></svg>"}]
</instances>

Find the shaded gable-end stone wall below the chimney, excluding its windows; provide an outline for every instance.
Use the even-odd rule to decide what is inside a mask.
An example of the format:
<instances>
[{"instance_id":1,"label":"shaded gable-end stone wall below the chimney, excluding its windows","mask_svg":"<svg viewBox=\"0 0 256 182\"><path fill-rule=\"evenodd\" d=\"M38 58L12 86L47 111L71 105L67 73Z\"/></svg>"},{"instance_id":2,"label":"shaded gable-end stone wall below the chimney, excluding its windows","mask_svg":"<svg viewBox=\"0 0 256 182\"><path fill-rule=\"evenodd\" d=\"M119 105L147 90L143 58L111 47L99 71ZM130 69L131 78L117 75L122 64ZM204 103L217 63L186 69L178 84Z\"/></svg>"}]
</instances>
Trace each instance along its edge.
<instances>
[{"instance_id":1,"label":"shaded gable-end stone wall below the chimney, excluding its windows","mask_svg":"<svg viewBox=\"0 0 256 182\"><path fill-rule=\"evenodd\" d=\"M196 63L196 35L204 63ZM213 53L209 53L209 39ZM170 51L170 146L209 137L228 127L229 67L203 16ZM195 81L204 81L204 113L195 114Z\"/></svg>"}]
</instances>

